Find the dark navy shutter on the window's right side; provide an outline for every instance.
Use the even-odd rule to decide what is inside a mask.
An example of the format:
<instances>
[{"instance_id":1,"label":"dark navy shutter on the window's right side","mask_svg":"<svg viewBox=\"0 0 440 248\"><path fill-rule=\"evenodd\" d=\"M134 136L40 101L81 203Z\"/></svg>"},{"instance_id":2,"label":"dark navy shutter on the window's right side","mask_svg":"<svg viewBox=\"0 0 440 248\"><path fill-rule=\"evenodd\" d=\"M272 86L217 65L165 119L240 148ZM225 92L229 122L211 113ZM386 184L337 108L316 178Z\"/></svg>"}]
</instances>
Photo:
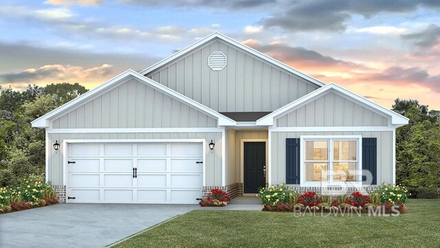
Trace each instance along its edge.
<instances>
[{"instance_id":1,"label":"dark navy shutter on the window's right side","mask_svg":"<svg viewBox=\"0 0 440 248\"><path fill-rule=\"evenodd\" d=\"M377 185L377 138L362 138L362 170L369 170L373 175L371 184Z\"/></svg>"}]
</instances>

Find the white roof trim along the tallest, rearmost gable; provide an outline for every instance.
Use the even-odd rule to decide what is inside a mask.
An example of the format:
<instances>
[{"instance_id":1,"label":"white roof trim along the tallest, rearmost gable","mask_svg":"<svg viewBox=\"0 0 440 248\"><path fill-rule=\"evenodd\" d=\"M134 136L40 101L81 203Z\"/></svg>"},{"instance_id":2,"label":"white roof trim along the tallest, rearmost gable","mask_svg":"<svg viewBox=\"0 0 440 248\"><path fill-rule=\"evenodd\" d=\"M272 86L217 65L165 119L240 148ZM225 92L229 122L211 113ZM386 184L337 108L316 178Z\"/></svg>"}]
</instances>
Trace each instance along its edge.
<instances>
[{"instance_id":1,"label":"white roof trim along the tallest, rearmost gable","mask_svg":"<svg viewBox=\"0 0 440 248\"><path fill-rule=\"evenodd\" d=\"M158 63L155 63L154 65L151 65L151 67L148 67L142 71L140 71L140 74L146 75L150 73L151 71L154 71L155 69L162 67L163 65L166 65L167 63L170 63L172 60L175 60L176 58L179 58L180 56L184 56L184 54L192 51L193 49L200 47L201 45L208 43L212 41L214 38L219 38L222 41L225 41L226 43L230 43L231 45L234 45L236 47L239 47L240 49L243 49L245 52L249 52L250 54L261 58L262 60L266 60L268 63L272 63L273 65L276 65L278 67L281 67L282 69L285 69L286 71L289 71L290 73L299 76L300 78L304 78L306 80L309 80L310 82L318 85L318 87L325 86L325 83L321 82L320 80L313 78L311 76L308 76L307 74L303 74L303 72L298 71L292 67L289 67L288 65L281 63L280 61L267 56L256 49L253 49L252 47L249 47L247 45L244 45L238 41L235 41L234 39L225 36L224 34L220 34L219 32L214 32L205 38L200 39L199 41L193 43L192 45L189 45L188 47L179 50L179 52L176 52L175 54L169 56L168 58L165 58L164 60L159 61Z\"/></svg>"}]
</instances>

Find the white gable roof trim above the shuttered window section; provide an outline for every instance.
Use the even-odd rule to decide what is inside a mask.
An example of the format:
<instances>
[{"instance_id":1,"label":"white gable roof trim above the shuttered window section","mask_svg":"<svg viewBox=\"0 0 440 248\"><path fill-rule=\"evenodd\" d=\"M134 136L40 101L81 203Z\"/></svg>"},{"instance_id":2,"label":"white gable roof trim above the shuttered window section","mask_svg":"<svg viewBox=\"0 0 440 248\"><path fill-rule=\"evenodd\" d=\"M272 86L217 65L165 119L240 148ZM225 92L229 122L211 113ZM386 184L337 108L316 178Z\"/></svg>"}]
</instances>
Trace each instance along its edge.
<instances>
[{"instance_id":1,"label":"white gable roof trim above the shuttered window section","mask_svg":"<svg viewBox=\"0 0 440 248\"><path fill-rule=\"evenodd\" d=\"M370 109L373 112L380 113L382 115L385 115L386 117L389 117L391 119L391 125L395 127L404 126L408 124L409 119L407 117L404 117L403 115L400 115L398 113L395 113L394 111L386 109L383 106L380 106L375 102L372 102L371 100L368 100L358 94L349 91L348 89L344 89L343 87L340 87L339 85L331 82L330 84L327 84L325 87L316 89L316 91L312 91L311 93L308 93L302 98L299 98L298 100L295 100L294 102L291 102L281 107L280 109L277 109L276 111L270 113L269 115L261 117L259 120L256 120L256 125L272 126L274 125L274 120L278 119L279 117L282 117L283 115L286 115L287 113L290 113L291 111L294 111L295 109L298 109L301 106L304 106L305 104L313 100L316 100L320 96L325 95L326 93L329 92L338 93L343 97L349 98L350 100L353 100L355 103L364 106L366 109Z\"/></svg>"}]
</instances>

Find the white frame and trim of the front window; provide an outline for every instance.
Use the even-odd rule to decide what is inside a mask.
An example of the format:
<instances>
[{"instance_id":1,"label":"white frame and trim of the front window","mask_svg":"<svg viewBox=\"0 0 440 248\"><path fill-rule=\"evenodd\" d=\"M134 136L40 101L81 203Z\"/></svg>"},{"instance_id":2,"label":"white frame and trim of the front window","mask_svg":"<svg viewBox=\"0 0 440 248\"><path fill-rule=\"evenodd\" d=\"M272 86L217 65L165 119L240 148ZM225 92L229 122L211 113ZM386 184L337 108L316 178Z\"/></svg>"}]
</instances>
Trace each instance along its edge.
<instances>
[{"instance_id":1,"label":"white frame and trim of the front window","mask_svg":"<svg viewBox=\"0 0 440 248\"><path fill-rule=\"evenodd\" d=\"M356 180L355 182L310 182L305 181L305 142L306 140L329 140L329 166L328 171L333 168L333 139L355 139L357 141L356 147L356 157L358 158L358 166L356 168ZM360 187L362 186L362 135L301 135L300 136L300 186L301 187L322 187L322 185L327 185L329 187Z\"/></svg>"}]
</instances>

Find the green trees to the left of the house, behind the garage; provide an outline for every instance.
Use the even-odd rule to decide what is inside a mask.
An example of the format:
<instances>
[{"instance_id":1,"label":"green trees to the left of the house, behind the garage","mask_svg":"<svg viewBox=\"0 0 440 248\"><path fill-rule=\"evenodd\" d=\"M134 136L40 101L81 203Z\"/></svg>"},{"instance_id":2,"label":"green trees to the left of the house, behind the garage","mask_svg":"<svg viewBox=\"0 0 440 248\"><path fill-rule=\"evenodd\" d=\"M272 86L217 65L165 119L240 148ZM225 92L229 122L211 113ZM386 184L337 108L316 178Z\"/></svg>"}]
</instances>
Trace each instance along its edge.
<instances>
[{"instance_id":1,"label":"green trees to the left of the house, behind the garage","mask_svg":"<svg viewBox=\"0 0 440 248\"><path fill-rule=\"evenodd\" d=\"M21 177L44 179L45 130L30 122L87 92L78 83L30 85L24 91L0 91L0 187Z\"/></svg>"}]
</instances>

